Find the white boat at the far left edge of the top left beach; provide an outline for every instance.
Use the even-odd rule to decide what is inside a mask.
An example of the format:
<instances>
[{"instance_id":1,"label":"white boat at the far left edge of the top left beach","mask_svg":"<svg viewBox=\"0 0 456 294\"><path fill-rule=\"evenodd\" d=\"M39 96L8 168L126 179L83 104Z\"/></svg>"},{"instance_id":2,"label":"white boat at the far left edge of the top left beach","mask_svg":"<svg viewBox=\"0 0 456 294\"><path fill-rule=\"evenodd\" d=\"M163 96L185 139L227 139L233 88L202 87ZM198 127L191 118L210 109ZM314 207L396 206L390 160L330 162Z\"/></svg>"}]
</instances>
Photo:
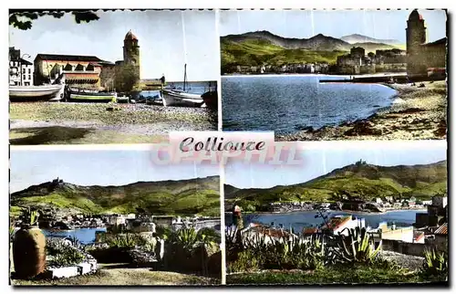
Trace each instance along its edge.
<instances>
[{"instance_id":1,"label":"white boat at the far left edge of the top left beach","mask_svg":"<svg viewBox=\"0 0 456 294\"><path fill-rule=\"evenodd\" d=\"M9 86L10 100L49 100L55 98L63 85Z\"/></svg>"}]
</instances>

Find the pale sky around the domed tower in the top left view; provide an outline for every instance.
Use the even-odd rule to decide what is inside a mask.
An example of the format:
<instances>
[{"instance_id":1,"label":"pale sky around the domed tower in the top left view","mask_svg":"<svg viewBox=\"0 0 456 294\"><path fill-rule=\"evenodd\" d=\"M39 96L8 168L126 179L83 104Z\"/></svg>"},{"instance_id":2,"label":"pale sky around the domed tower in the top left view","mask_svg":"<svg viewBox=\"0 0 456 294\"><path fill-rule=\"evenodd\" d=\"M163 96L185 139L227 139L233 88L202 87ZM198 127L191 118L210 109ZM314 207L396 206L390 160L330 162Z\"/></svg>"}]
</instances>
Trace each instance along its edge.
<instances>
[{"instance_id":1,"label":"pale sky around the domed tower in the top left view","mask_svg":"<svg viewBox=\"0 0 456 294\"><path fill-rule=\"evenodd\" d=\"M41 16L26 31L9 26L9 46L36 58L38 53L123 59L123 40L131 31L140 45L140 78L216 80L220 73L219 34L212 11L116 11L77 24L74 16Z\"/></svg>"}]
</instances>

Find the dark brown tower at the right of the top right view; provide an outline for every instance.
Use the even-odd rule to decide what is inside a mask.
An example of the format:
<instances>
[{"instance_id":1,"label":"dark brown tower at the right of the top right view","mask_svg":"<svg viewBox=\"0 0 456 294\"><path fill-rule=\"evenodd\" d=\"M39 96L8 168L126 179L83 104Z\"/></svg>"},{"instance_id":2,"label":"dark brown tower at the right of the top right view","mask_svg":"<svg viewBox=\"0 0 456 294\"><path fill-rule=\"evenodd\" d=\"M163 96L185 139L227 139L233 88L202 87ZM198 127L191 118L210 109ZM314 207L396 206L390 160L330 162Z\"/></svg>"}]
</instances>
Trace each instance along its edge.
<instances>
[{"instance_id":1,"label":"dark brown tower at the right of the top right view","mask_svg":"<svg viewBox=\"0 0 456 294\"><path fill-rule=\"evenodd\" d=\"M426 43L426 26L418 10L410 13L407 21L407 73L417 75L426 73L426 58L422 55L421 44Z\"/></svg>"}]
</instances>

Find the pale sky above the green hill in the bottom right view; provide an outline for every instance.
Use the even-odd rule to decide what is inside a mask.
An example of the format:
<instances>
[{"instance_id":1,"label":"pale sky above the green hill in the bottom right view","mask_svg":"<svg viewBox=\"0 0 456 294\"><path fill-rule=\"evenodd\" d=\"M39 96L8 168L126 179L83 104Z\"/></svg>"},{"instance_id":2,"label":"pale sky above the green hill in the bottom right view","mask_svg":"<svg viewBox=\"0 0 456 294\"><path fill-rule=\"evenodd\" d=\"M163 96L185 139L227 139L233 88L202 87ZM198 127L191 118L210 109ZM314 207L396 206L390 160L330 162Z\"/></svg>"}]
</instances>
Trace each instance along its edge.
<instances>
[{"instance_id":1,"label":"pale sky above the green hill in the bottom right view","mask_svg":"<svg viewBox=\"0 0 456 294\"><path fill-rule=\"evenodd\" d=\"M368 149L363 146L356 147L356 143L349 148L313 148L300 153L304 162L301 165L229 163L225 167L225 184L238 188L270 188L275 185L300 184L356 163L360 159L381 166L429 164L445 160L446 152L446 146L440 143L417 143L407 148L383 145Z\"/></svg>"}]
</instances>

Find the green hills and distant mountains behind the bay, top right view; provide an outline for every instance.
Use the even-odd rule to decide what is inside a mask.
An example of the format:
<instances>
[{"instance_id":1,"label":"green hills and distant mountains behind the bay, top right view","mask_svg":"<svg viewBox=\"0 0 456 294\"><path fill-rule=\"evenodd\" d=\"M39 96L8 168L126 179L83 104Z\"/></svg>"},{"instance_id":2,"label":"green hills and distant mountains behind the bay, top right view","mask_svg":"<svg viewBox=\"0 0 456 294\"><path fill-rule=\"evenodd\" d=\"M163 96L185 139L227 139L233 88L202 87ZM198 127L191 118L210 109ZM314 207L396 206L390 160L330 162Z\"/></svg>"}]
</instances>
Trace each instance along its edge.
<instances>
[{"instance_id":1,"label":"green hills and distant mountains behind the bay, top right view","mask_svg":"<svg viewBox=\"0 0 456 294\"><path fill-rule=\"evenodd\" d=\"M368 52L398 47L396 40L380 40L362 35L342 38L318 34L309 38L280 37L268 31L248 32L221 37L222 71L233 66L281 66L293 63L326 62L334 64L337 57L352 47Z\"/></svg>"}]
</instances>

